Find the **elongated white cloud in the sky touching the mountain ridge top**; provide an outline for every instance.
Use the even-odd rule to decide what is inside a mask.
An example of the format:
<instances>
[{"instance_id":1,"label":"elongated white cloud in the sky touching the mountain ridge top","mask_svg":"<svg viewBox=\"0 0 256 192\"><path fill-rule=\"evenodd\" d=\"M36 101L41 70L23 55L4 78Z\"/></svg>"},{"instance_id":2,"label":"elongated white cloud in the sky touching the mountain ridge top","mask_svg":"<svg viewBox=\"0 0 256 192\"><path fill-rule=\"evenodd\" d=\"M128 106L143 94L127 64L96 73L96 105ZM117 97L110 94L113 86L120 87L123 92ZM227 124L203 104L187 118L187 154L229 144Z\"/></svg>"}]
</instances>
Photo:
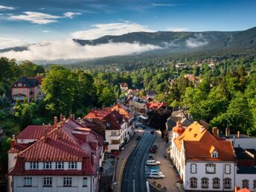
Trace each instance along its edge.
<instances>
[{"instance_id":1,"label":"elongated white cloud in the sky touching the mountain ridge top","mask_svg":"<svg viewBox=\"0 0 256 192\"><path fill-rule=\"evenodd\" d=\"M92 25L94 28L86 31L76 31L71 34L74 39L97 39L106 35L122 35L125 33L147 31L154 32L144 25L138 25L132 22L118 22L109 24Z\"/></svg>"}]
</instances>

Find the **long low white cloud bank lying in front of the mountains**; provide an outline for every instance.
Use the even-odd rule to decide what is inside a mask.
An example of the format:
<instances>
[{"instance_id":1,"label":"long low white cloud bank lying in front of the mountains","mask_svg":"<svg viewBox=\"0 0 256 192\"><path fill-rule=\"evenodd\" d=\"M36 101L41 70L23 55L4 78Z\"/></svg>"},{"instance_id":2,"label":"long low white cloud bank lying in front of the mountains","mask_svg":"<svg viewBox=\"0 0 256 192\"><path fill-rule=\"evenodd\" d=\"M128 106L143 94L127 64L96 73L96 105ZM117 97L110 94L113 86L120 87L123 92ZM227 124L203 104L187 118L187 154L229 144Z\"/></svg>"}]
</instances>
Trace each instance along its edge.
<instances>
[{"instance_id":1,"label":"long low white cloud bank lying in front of the mountains","mask_svg":"<svg viewBox=\"0 0 256 192\"><path fill-rule=\"evenodd\" d=\"M99 57L110 57L129 54L140 54L144 51L161 49L156 45L141 45L138 42L109 42L100 45L79 45L72 40L42 42L29 45L26 51L7 51L0 57L16 60L87 60Z\"/></svg>"}]
</instances>

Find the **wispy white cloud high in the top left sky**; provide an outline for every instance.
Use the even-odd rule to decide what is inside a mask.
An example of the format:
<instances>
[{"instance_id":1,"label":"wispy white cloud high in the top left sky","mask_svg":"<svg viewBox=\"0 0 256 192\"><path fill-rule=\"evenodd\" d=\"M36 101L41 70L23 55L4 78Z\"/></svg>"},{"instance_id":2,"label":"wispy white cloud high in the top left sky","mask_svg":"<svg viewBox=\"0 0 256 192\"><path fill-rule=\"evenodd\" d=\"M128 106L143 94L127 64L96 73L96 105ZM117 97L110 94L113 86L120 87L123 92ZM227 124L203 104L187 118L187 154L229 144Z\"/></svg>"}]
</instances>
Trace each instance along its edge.
<instances>
[{"instance_id":1,"label":"wispy white cloud high in the top left sky","mask_svg":"<svg viewBox=\"0 0 256 192\"><path fill-rule=\"evenodd\" d=\"M39 13L39 12L23 12L22 15L10 16L9 19L11 20L24 20L31 23L36 24L48 24L52 22L57 22L56 19L59 19L60 16L53 16L46 13Z\"/></svg>"}]
</instances>

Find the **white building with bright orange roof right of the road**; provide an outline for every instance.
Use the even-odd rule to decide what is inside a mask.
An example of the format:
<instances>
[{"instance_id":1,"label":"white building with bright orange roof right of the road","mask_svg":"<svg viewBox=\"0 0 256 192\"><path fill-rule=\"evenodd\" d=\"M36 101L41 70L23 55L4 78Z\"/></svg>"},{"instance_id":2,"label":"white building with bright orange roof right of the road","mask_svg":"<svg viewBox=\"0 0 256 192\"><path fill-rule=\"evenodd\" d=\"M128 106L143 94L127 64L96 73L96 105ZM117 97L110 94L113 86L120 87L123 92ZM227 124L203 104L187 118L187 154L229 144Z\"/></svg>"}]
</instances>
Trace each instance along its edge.
<instances>
[{"instance_id":1,"label":"white building with bright orange roof right of the road","mask_svg":"<svg viewBox=\"0 0 256 192\"><path fill-rule=\"evenodd\" d=\"M211 135L196 121L187 128L178 121L173 127L170 159L186 191L234 191L232 143L218 139L217 128L213 132Z\"/></svg>"}]
</instances>

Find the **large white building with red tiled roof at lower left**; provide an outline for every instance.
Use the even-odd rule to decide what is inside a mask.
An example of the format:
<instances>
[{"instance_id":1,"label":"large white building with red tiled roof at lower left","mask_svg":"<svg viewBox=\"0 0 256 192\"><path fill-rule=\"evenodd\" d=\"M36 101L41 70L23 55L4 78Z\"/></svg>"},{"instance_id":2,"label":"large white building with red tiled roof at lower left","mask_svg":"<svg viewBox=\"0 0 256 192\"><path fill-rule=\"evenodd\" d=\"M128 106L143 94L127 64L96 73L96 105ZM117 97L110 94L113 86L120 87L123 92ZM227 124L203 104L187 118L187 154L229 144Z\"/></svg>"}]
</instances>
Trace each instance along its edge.
<instances>
[{"instance_id":1,"label":"large white building with red tiled roof at lower left","mask_svg":"<svg viewBox=\"0 0 256 192\"><path fill-rule=\"evenodd\" d=\"M13 138L8 152L10 191L96 192L103 138L74 120L29 126Z\"/></svg>"}]
</instances>

